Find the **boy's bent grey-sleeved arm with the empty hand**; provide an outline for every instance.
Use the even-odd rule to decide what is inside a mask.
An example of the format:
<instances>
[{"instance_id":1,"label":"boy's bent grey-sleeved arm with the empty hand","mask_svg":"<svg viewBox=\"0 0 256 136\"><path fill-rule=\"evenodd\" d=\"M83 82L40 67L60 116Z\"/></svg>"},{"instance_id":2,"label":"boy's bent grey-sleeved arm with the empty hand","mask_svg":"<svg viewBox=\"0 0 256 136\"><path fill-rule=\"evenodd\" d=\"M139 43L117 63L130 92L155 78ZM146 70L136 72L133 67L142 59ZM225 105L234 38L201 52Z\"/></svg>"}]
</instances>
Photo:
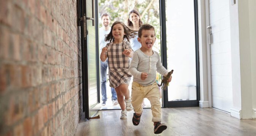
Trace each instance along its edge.
<instances>
[{"instance_id":1,"label":"boy's bent grey-sleeved arm with the empty hand","mask_svg":"<svg viewBox=\"0 0 256 136\"><path fill-rule=\"evenodd\" d=\"M132 76L134 76L135 78L140 79L140 75L142 74L142 72L137 70L138 62L139 62L139 56L138 56L138 53L135 52L133 54L132 61L130 63L129 71L132 74Z\"/></svg>"}]
</instances>

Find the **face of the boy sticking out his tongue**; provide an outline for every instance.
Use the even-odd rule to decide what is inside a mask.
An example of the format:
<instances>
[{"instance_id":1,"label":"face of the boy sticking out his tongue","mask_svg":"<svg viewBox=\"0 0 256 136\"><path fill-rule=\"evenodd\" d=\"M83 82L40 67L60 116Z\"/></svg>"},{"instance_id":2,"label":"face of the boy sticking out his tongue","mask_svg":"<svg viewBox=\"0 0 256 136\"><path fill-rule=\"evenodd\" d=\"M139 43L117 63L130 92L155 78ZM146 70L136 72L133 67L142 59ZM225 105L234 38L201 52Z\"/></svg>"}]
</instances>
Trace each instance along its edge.
<instances>
[{"instance_id":1,"label":"face of the boy sticking out his tongue","mask_svg":"<svg viewBox=\"0 0 256 136\"><path fill-rule=\"evenodd\" d=\"M138 42L142 44L144 49L152 49L156 41L155 32L153 29L142 30L142 36L138 37Z\"/></svg>"}]
</instances>

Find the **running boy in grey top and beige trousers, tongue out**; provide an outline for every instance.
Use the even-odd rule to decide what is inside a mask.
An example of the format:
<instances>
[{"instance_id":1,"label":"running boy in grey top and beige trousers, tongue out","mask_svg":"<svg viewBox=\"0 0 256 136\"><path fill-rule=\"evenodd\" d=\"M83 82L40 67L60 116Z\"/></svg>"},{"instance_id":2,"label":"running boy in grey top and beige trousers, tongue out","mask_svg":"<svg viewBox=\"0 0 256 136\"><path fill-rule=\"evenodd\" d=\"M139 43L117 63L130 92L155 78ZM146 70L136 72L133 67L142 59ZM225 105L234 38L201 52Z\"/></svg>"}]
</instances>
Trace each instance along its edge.
<instances>
[{"instance_id":1,"label":"running boy in grey top and beige trousers, tongue out","mask_svg":"<svg viewBox=\"0 0 256 136\"><path fill-rule=\"evenodd\" d=\"M134 52L129 71L134 76L132 82L132 106L135 113L132 123L134 125L140 123L140 117L143 112L142 101L143 98L148 98L151 103L154 133L159 134L167 126L161 124L161 96L156 84L156 71L162 75L167 75L168 71L162 66L159 54L152 49L155 40L154 27L148 24L142 25L138 31L138 41L142 47ZM170 82L171 80L172 76L167 81Z\"/></svg>"}]
</instances>

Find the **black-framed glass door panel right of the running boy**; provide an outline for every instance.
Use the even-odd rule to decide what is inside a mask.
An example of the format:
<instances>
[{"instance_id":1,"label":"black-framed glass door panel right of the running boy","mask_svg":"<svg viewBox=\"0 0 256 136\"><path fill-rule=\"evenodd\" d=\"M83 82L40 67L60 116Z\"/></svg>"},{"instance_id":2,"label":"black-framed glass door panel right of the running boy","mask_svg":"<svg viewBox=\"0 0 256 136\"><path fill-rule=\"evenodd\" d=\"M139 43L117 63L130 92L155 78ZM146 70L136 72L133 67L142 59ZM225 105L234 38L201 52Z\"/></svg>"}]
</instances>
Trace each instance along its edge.
<instances>
[{"instance_id":1,"label":"black-framed glass door panel right of the running boy","mask_svg":"<svg viewBox=\"0 0 256 136\"><path fill-rule=\"evenodd\" d=\"M166 37L162 39L162 62L174 70L164 91L164 107L199 105L196 5L196 0L162 2L162 28L166 28L162 29L162 37Z\"/></svg>"}]
</instances>

